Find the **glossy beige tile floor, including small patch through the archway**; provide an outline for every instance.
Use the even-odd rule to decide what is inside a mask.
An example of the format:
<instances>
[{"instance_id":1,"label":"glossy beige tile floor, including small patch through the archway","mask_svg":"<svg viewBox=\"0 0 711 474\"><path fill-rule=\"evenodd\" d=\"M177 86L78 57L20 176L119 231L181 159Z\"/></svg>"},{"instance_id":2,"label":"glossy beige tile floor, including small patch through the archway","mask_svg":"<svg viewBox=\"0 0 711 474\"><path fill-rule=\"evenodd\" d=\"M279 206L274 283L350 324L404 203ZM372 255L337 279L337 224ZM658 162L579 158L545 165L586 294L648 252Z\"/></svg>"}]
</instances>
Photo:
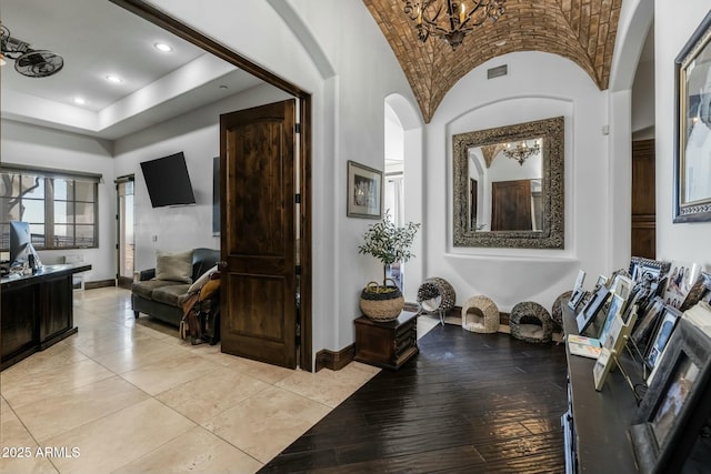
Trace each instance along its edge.
<instances>
[{"instance_id":1,"label":"glossy beige tile floor, including small patch through the archway","mask_svg":"<svg viewBox=\"0 0 711 474\"><path fill-rule=\"evenodd\" d=\"M420 317L419 335L434 317ZM130 293L88 290L79 333L0 374L1 473L254 473L379 369L309 373L191 345Z\"/></svg>"}]
</instances>

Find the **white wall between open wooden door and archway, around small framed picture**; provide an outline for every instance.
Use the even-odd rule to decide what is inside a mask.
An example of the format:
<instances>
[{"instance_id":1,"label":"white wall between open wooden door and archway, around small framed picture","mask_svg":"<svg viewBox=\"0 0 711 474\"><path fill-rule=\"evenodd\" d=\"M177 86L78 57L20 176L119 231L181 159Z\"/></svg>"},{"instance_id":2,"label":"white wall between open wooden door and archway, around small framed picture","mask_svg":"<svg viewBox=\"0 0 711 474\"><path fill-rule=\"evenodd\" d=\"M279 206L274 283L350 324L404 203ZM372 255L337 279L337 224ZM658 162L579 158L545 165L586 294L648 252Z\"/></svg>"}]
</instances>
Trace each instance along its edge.
<instances>
[{"instance_id":1,"label":"white wall between open wooden door and archway, around small framed picture","mask_svg":"<svg viewBox=\"0 0 711 474\"><path fill-rule=\"evenodd\" d=\"M233 11L229 0L152 3L312 94L313 352L352 344L360 290L381 268L358 254L373 221L346 216L346 163L382 170L384 99L412 98L380 29L359 0L276 4L289 23L264 1L239 14L214 14Z\"/></svg>"}]
</instances>

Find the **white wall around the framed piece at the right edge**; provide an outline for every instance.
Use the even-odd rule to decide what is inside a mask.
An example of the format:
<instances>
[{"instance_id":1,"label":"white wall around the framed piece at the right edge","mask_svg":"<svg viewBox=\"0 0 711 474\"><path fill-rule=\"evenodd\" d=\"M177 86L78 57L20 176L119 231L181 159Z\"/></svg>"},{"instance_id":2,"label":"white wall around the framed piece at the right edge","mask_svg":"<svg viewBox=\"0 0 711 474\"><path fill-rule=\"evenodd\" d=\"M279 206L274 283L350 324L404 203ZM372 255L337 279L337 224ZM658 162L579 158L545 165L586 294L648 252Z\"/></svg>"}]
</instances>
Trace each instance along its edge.
<instances>
[{"instance_id":1,"label":"white wall around the framed piece at the right edge","mask_svg":"<svg viewBox=\"0 0 711 474\"><path fill-rule=\"evenodd\" d=\"M711 222L674 224L674 59L711 10L709 0L654 1L654 77L657 82L657 256L697 262L711 269Z\"/></svg>"}]
</instances>

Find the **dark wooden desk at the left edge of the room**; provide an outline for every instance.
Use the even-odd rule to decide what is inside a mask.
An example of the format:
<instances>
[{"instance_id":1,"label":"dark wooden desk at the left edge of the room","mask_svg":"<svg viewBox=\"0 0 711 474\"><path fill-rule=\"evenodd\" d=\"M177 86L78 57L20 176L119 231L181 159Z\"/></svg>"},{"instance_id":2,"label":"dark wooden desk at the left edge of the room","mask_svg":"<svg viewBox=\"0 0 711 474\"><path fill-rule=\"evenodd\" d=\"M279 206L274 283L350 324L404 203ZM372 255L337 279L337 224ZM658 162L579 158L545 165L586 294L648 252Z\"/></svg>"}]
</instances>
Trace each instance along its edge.
<instances>
[{"instance_id":1,"label":"dark wooden desk at the left edge of the room","mask_svg":"<svg viewBox=\"0 0 711 474\"><path fill-rule=\"evenodd\" d=\"M91 265L44 265L31 275L0 280L0 370L77 333L72 275L88 270Z\"/></svg>"}]
</instances>

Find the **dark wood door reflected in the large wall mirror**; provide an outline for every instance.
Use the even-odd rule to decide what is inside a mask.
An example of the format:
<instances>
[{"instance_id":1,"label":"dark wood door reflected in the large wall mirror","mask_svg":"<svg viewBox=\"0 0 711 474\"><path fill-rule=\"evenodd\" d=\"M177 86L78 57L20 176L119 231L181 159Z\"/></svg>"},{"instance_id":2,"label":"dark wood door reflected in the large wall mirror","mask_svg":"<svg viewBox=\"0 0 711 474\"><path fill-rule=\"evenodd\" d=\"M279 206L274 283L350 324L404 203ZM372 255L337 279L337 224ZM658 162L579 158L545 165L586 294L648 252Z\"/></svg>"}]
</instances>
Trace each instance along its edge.
<instances>
[{"instance_id":1,"label":"dark wood door reflected in the large wall mirror","mask_svg":"<svg viewBox=\"0 0 711 474\"><path fill-rule=\"evenodd\" d=\"M491 230L530 231L531 181L494 181L491 183Z\"/></svg>"}]
</instances>

